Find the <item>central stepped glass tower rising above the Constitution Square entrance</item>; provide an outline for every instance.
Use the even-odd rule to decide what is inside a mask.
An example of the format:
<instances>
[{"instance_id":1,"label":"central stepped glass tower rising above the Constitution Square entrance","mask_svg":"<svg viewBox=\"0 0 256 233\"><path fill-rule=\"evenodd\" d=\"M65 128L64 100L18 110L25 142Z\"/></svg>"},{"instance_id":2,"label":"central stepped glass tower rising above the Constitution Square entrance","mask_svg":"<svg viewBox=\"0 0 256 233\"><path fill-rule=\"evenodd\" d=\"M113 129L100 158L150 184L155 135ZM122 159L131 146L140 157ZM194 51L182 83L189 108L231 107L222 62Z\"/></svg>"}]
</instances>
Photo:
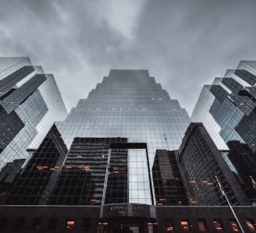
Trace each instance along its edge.
<instances>
[{"instance_id":1,"label":"central stepped glass tower rising above the Constitution Square entrance","mask_svg":"<svg viewBox=\"0 0 256 233\"><path fill-rule=\"evenodd\" d=\"M124 173L127 177L123 176L123 182L127 180L128 185L123 189L125 187L128 192L123 194L127 199L123 198L121 202L154 203L150 171L155 152L179 149L189 123L187 111L180 108L178 101L170 99L166 90L155 83L155 78L148 75L148 70L111 70L109 76L91 90L87 99L80 100L70 111L65 122L56 122L62 139L70 148L58 189L65 183L63 179L68 179L67 174L80 171L85 175L81 165L87 164L87 175L98 176L94 182L98 189L90 196L91 203L115 202L109 199L105 187L112 185L115 189L115 177ZM84 152L75 150L78 142ZM89 153L90 147L100 149ZM123 164L116 164L115 156L123 157ZM88 160L92 158L103 167L98 169L91 164ZM105 170L106 166L108 170ZM59 191L55 195L57 193ZM84 201L83 195L76 195Z\"/></svg>"}]
</instances>

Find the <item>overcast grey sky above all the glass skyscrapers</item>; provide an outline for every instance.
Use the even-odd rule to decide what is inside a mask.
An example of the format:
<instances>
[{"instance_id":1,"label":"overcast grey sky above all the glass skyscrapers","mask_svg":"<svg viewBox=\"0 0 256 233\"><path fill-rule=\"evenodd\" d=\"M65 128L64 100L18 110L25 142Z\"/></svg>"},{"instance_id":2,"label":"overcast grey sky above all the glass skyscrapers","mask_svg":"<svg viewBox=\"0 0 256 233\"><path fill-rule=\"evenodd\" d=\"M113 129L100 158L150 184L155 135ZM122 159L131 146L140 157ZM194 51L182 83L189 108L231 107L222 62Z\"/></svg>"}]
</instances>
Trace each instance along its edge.
<instances>
[{"instance_id":1,"label":"overcast grey sky above all the glass skyscrapers","mask_svg":"<svg viewBox=\"0 0 256 233\"><path fill-rule=\"evenodd\" d=\"M189 115L204 84L256 60L255 0L0 0L0 56L53 73L70 111L110 69L148 69Z\"/></svg>"}]
</instances>

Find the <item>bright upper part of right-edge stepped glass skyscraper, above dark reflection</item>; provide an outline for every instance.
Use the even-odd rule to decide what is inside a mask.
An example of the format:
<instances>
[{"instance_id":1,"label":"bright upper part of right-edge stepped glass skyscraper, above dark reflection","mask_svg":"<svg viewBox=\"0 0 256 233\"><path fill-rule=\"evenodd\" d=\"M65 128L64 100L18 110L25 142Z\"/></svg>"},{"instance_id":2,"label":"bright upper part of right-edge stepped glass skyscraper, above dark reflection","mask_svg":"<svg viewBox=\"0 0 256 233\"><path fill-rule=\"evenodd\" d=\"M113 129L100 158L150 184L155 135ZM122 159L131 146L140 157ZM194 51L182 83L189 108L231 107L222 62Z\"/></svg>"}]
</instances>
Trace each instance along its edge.
<instances>
[{"instance_id":1,"label":"bright upper part of right-edge stepped glass skyscraper, above dark reflection","mask_svg":"<svg viewBox=\"0 0 256 233\"><path fill-rule=\"evenodd\" d=\"M219 150L228 149L231 140L256 150L255 83L256 62L241 61L203 87L191 118L203 122Z\"/></svg>"}]
</instances>

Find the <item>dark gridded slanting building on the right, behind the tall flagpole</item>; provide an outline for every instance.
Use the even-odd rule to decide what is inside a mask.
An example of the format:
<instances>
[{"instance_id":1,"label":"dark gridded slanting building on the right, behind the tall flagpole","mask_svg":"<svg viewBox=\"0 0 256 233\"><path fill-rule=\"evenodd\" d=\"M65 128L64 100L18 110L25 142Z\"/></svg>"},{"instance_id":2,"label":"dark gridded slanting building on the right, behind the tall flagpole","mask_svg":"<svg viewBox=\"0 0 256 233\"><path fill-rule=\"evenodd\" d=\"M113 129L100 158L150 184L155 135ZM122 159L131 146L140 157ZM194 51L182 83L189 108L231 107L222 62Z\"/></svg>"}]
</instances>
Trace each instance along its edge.
<instances>
[{"instance_id":1,"label":"dark gridded slanting building on the right, behind the tall flagpole","mask_svg":"<svg viewBox=\"0 0 256 233\"><path fill-rule=\"evenodd\" d=\"M180 150L175 153L190 204L227 205L216 182L217 176L232 205L251 205L202 123L189 125Z\"/></svg>"}]
</instances>

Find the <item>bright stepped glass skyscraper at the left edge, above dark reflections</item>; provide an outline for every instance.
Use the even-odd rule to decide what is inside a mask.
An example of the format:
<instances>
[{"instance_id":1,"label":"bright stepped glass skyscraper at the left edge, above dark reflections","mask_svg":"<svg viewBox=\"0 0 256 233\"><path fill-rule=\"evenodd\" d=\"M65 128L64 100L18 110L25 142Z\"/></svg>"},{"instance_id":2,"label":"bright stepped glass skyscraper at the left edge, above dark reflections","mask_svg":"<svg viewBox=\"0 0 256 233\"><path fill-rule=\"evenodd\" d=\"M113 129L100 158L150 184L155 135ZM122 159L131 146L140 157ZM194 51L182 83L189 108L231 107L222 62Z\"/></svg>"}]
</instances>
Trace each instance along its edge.
<instances>
[{"instance_id":1,"label":"bright stepped glass skyscraper at the left edge, above dark reflections","mask_svg":"<svg viewBox=\"0 0 256 233\"><path fill-rule=\"evenodd\" d=\"M0 169L27 160L56 120L67 116L52 75L30 58L0 58Z\"/></svg>"}]
</instances>

